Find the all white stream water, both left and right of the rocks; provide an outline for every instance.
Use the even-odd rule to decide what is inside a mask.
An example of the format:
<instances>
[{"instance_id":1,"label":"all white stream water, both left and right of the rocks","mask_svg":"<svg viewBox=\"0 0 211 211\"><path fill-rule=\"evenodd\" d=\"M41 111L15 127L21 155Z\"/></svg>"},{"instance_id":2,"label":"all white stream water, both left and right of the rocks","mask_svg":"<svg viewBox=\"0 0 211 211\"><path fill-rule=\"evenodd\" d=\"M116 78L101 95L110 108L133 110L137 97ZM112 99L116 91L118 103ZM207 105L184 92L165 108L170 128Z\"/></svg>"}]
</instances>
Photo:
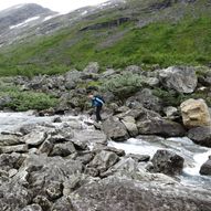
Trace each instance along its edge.
<instances>
[{"instance_id":1,"label":"all white stream water, both left and right of the rocks","mask_svg":"<svg viewBox=\"0 0 211 211\"><path fill-rule=\"evenodd\" d=\"M14 131L23 125L36 123L52 123L55 116L52 117L36 117L33 112L27 113L0 113L0 133ZM63 116L63 120L72 119L80 122L82 128L92 129L85 123L89 119L85 116ZM211 177L200 176L199 170L202 163L208 160L211 155L211 148L201 147L193 144L189 138L159 138L149 140L144 137L130 138L125 143L109 141L109 146L124 149L126 154L149 155L152 157L158 149L168 149L177 152L184 158L183 173L180 177L181 182L192 186L211 187Z\"/></svg>"}]
</instances>

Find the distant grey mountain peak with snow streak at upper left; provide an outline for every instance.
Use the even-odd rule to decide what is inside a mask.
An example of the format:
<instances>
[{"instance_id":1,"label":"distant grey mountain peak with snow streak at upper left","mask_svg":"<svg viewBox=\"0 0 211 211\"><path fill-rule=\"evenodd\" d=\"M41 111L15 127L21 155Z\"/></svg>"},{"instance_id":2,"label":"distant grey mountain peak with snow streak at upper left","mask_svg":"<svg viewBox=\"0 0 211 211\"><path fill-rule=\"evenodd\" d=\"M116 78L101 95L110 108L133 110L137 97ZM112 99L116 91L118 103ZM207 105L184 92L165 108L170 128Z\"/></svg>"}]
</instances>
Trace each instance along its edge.
<instances>
[{"instance_id":1,"label":"distant grey mountain peak with snow streak at upper left","mask_svg":"<svg viewBox=\"0 0 211 211\"><path fill-rule=\"evenodd\" d=\"M0 11L0 46L29 36L29 30L56 15L34 3L18 4Z\"/></svg>"}]
</instances>

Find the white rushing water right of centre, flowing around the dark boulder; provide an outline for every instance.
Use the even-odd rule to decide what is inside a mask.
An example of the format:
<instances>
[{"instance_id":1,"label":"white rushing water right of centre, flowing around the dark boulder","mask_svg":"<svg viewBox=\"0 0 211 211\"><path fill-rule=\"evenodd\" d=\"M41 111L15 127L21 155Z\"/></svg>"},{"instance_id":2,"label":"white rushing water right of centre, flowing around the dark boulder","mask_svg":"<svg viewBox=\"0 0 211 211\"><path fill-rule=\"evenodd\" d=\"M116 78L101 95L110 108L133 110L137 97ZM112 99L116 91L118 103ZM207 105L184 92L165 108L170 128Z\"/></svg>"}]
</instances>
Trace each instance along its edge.
<instances>
[{"instance_id":1,"label":"white rushing water right of centre, flowing around the dark boulder","mask_svg":"<svg viewBox=\"0 0 211 211\"><path fill-rule=\"evenodd\" d=\"M126 154L149 155L152 157L158 149L175 151L184 158L184 168L180 177L181 182L190 186L211 187L211 177L199 173L201 166L211 155L211 148L196 145L187 137L158 138L157 141L148 141L143 138L130 138L125 143L110 141L109 146L124 149Z\"/></svg>"}]
</instances>

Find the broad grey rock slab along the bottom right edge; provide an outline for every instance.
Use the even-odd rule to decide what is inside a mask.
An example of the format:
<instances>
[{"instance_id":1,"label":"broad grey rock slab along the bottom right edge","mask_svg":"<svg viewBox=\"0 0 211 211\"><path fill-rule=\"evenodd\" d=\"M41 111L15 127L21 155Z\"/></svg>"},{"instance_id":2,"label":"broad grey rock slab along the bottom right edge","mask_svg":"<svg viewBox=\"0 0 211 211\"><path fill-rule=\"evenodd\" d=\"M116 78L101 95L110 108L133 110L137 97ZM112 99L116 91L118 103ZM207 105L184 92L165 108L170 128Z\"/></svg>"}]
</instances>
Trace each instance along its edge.
<instances>
[{"instance_id":1,"label":"broad grey rock slab along the bottom right edge","mask_svg":"<svg viewBox=\"0 0 211 211\"><path fill-rule=\"evenodd\" d=\"M73 210L210 210L209 191L109 177L87 183L71 194Z\"/></svg>"}]
</instances>

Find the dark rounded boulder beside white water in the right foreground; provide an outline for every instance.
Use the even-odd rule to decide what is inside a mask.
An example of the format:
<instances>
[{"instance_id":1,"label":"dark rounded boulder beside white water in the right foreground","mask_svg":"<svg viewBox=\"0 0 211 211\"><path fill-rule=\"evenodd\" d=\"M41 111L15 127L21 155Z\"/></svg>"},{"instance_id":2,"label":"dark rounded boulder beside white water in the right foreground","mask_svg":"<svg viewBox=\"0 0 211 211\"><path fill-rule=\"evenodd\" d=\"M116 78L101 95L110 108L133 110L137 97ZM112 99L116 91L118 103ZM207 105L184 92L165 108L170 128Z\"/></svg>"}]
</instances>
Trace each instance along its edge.
<instances>
[{"instance_id":1,"label":"dark rounded boulder beside white water in the right foreground","mask_svg":"<svg viewBox=\"0 0 211 211\"><path fill-rule=\"evenodd\" d=\"M162 172L169 176L180 175L184 159L169 150L157 150L151 159L154 172Z\"/></svg>"}]
</instances>

